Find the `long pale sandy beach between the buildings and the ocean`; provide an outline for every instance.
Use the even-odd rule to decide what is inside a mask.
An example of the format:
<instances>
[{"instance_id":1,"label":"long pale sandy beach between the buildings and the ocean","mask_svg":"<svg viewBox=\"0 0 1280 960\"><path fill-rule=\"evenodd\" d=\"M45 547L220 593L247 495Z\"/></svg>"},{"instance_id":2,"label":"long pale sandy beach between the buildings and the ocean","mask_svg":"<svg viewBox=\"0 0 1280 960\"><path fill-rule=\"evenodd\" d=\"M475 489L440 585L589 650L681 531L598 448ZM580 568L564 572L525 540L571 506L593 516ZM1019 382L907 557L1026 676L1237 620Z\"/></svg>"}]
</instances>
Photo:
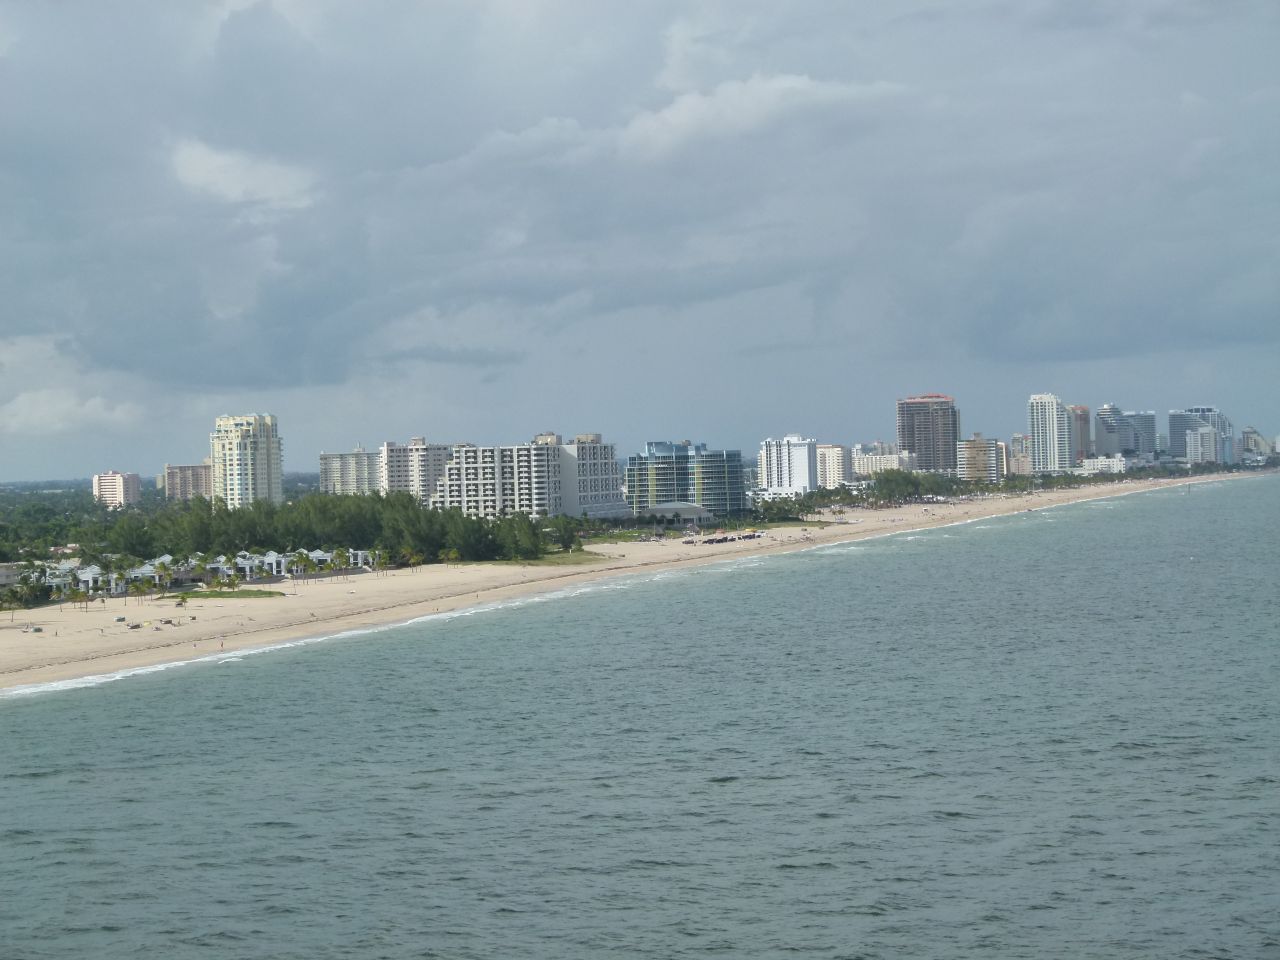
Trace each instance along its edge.
<instances>
[{"instance_id":1,"label":"long pale sandy beach between the buildings and the ocean","mask_svg":"<svg viewBox=\"0 0 1280 960\"><path fill-rule=\"evenodd\" d=\"M726 544L682 544L680 540L594 544L588 548L594 561L571 566L433 564L385 575L357 572L269 588L283 590L284 596L230 598L197 593L184 608L168 596L142 602L111 599L105 604L90 604L87 611L72 604L17 611L12 620L10 613L0 620L0 690L115 675L305 637L404 623L434 613L659 567L785 553L1243 476L1247 475L1128 481L893 509L854 509L844 517L832 517L837 522L826 526L780 527L764 531L760 539ZM131 630L129 623L141 626ZM32 630L36 626L41 632Z\"/></svg>"}]
</instances>

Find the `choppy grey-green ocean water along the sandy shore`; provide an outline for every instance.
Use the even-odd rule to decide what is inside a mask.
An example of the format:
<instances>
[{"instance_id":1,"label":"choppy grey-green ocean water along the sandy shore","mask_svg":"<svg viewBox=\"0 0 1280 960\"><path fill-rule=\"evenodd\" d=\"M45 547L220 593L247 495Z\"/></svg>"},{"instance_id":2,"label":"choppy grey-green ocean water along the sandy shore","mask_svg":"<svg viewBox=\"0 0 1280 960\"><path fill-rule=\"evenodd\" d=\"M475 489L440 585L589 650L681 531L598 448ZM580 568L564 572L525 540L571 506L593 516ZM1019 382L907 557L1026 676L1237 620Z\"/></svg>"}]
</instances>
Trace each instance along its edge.
<instances>
[{"instance_id":1,"label":"choppy grey-green ocean water along the sandy shore","mask_svg":"<svg viewBox=\"0 0 1280 960\"><path fill-rule=\"evenodd\" d=\"M0 957L1277 957L1280 477L0 698Z\"/></svg>"}]
</instances>

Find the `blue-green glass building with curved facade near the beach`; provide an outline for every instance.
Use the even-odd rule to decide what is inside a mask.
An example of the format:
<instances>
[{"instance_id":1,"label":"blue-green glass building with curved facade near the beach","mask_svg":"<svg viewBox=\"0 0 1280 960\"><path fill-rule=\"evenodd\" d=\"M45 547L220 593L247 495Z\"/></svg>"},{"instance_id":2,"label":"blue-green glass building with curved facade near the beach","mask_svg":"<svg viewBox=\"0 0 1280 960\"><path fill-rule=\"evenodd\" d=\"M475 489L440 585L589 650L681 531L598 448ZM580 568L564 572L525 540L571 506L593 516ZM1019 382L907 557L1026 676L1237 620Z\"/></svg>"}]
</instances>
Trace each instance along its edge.
<instances>
[{"instance_id":1,"label":"blue-green glass building with curved facade near the beach","mask_svg":"<svg viewBox=\"0 0 1280 960\"><path fill-rule=\"evenodd\" d=\"M627 458L627 503L640 516L667 503L696 503L716 516L746 509L741 451L705 443L649 442Z\"/></svg>"}]
</instances>

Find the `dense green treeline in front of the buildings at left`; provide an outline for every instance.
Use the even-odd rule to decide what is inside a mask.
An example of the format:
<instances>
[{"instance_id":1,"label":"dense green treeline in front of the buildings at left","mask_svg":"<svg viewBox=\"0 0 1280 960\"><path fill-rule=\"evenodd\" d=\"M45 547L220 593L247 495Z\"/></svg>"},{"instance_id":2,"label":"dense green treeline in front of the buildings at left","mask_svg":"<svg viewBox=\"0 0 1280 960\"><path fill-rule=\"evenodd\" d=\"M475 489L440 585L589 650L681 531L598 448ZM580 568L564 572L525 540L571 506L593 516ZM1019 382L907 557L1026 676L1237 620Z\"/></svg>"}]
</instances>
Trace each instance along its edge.
<instances>
[{"instance_id":1,"label":"dense green treeline in front of the buildings at left","mask_svg":"<svg viewBox=\"0 0 1280 960\"><path fill-rule=\"evenodd\" d=\"M378 552L388 563L536 559L549 548L577 545L580 521L535 521L524 513L500 520L421 507L410 494L329 497L310 494L276 506L257 500L228 509L205 499L109 511L87 493L0 500L0 562L40 558L67 543L86 563L106 556L178 558L238 550L293 552L352 548Z\"/></svg>"}]
</instances>

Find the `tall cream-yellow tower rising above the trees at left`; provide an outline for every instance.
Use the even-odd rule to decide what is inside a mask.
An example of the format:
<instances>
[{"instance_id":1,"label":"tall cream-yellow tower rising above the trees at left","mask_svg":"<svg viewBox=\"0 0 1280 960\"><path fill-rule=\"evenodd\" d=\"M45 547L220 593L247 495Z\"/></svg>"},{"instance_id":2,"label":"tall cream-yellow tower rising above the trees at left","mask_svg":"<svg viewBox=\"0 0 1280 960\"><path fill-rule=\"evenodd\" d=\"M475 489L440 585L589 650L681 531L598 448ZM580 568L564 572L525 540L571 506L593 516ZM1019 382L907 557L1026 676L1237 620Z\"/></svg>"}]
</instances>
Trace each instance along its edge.
<instances>
[{"instance_id":1,"label":"tall cream-yellow tower rising above the trees at left","mask_svg":"<svg viewBox=\"0 0 1280 960\"><path fill-rule=\"evenodd\" d=\"M284 503L284 444L273 415L218 417L209 462L214 499L230 509L253 500Z\"/></svg>"}]
</instances>

